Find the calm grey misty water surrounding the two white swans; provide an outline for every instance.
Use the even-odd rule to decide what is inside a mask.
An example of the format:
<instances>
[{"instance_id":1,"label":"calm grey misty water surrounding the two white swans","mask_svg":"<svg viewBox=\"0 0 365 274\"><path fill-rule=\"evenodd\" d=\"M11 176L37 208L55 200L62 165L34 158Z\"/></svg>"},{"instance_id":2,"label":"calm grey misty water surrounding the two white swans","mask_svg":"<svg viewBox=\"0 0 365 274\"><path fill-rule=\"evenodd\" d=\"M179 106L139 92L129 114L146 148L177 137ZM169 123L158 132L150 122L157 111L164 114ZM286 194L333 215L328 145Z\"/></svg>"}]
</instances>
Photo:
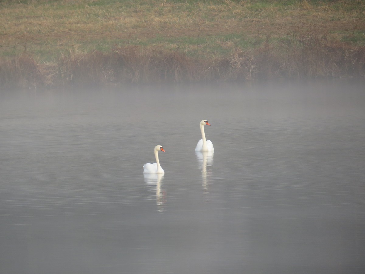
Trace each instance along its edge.
<instances>
[{"instance_id":1,"label":"calm grey misty water surrounding the two white swans","mask_svg":"<svg viewBox=\"0 0 365 274\"><path fill-rule=\"evenodd\" d=\"M0 273L364 273L364 87L1 91Z\"/></svg>"}]
</instances>

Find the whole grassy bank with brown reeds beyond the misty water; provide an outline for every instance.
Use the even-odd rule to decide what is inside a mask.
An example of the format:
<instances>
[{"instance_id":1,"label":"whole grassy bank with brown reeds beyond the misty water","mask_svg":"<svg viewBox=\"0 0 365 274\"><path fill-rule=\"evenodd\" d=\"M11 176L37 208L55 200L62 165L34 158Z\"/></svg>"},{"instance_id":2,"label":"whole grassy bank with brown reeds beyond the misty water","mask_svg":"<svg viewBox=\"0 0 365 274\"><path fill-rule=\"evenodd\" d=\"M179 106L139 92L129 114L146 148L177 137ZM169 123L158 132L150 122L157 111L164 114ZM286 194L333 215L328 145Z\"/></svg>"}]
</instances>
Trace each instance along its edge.
<instances>
[{"instance_id":1,"label":"whole grassy bank with brown reeds beyond the misty water","mask_svg":"<svg viewBox=\"0 0 365 274\"><path fill-rule=\"evenodd\" d=\"M365 0L3 0L0 12L1 87L365 75Z\"/></svg>"}]
</instances>

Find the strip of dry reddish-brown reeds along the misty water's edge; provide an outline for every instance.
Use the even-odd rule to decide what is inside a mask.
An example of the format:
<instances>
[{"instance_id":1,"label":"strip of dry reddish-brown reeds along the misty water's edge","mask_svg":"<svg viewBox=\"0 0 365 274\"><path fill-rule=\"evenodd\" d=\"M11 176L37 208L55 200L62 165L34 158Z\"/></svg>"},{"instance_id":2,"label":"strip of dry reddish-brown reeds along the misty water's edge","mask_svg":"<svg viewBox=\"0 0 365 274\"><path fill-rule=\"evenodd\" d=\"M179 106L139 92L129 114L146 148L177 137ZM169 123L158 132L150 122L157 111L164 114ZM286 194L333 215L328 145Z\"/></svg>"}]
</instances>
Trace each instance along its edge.
<instances>
[{"instance_id":1,"label":"strip of dry reddish-brown reeds along the misty water's edge","mask_svg":"<svg viewBox=\"0 0 365 274\"><path fill-rule=\"evenodd\" d=\"M118 83L245 81L273 78L364 77L364 47L303 38L282 50L265 43L254 50L236 49L230 57L189 58L156 47L116 47L111 52L70 53L58 62L38 63L28 54L3 60L3 87L52 87Z\"/></svg>"}]
</instances>

